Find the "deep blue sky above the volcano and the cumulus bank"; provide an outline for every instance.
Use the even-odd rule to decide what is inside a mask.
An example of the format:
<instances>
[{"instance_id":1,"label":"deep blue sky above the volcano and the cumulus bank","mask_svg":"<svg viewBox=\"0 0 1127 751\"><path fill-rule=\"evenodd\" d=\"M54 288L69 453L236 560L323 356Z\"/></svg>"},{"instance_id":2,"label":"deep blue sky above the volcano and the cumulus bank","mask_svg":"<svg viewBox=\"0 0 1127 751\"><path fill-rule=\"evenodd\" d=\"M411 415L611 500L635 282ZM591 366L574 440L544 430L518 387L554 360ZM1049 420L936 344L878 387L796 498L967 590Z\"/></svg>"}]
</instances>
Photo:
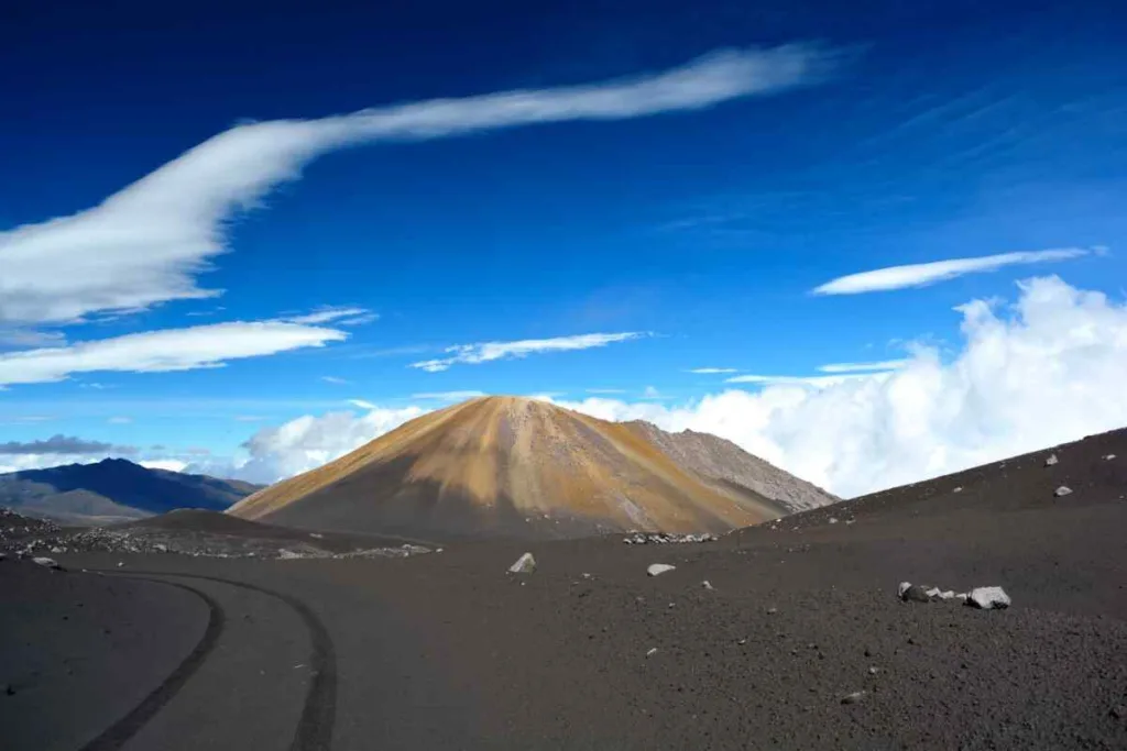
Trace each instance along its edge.
<instances>
[{"instance_id":1,"label":"deep blue sky above the volcano and the cumulus bank","mask_svg":"<svg viewBox=\"0 0 1127 751\"><path fill-rule=\"evenodd\" d=\"M725 383L742 374L819 376L908 357L906 342L957 358L952 309L1012 301L1032 275L1122 297L1113 3L388 6L52 3L2 25L0 442L227 457L257 430L369 409L349 400L698 404L762 387ZM640 101L639 77L700 65L737 90L694 79L687 100ZM240 124L577 86L639 101L468 133L461 110L440 113L450 133L245 127L206 169L137 184ZM215 208L214 186L243 173L255 188L229 186ZM46 224L131 185L97 222ZM1055 249L1072 257L814 294L873 269ZM308 318L326 309L355 310ZM232 322L270 330L167 334ZM122 338L148 332L166 334L133 359ZM620 340L579 348L587 334ZM242 343L207 350L229 339ZM571 348L412 367L530 340ZM153 372L193 347L207 351Z\"/></svg>"}]
</instances>

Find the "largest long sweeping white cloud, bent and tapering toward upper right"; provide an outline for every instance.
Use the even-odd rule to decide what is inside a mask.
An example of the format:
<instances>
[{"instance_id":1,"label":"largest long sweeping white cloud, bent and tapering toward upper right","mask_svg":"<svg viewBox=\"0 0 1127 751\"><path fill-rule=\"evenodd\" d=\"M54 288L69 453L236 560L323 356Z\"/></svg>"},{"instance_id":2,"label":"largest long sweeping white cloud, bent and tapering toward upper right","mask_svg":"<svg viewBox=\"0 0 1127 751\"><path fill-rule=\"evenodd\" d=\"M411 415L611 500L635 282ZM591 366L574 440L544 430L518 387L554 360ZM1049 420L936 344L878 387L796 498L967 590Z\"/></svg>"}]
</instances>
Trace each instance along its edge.
<instances>
[{"instance_id":1,"label":"largest long sweeping white cloud, bent and tapering toward upper right","mask_svg":"<svg viewBox=\"0 0 1127 751\"><path fill-rule=\"evenodd\" d=\"M832 62L831 54L798 45L728 51L625 80L240 125L94 208L0 233L0 321L74 321L218 296L222 290L197 286L196 276L223 252L228 220L328 151L702 109L814 82Z\"/></svg>"}]
</instances>

